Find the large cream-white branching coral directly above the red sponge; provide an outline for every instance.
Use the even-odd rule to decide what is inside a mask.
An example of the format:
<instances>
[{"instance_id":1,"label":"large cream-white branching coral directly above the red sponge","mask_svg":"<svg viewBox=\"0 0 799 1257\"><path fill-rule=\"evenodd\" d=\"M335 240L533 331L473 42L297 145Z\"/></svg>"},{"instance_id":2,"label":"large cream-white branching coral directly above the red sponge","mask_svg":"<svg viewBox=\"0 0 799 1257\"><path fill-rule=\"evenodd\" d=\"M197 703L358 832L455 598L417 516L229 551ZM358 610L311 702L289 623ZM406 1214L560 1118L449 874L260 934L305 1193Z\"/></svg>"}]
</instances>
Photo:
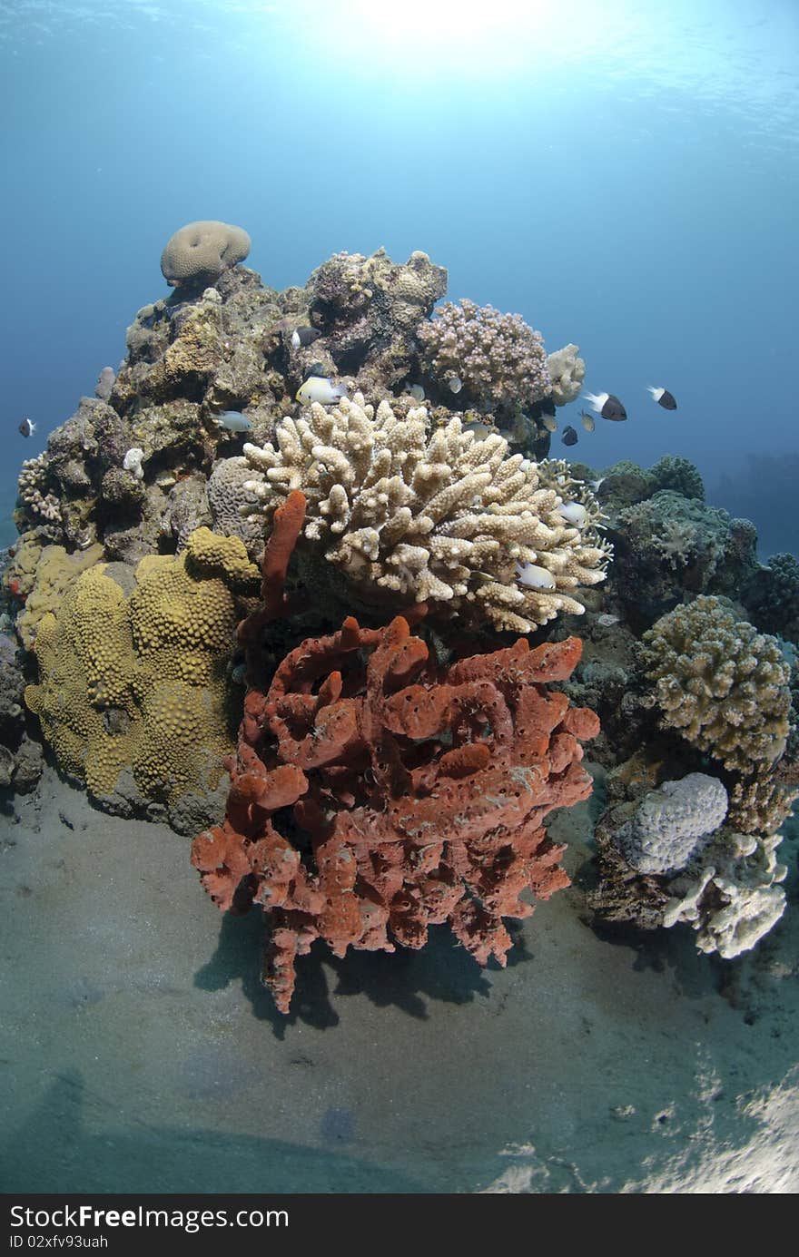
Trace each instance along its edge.
<instances>
[{"instance_id":1,"label":"large cream-white branching coral directly above the red sponge","mask_svg":"<svg viewBox=\"0 0 799 1257\"><path fill-rule=\"evenodd\" d=\"M579 523L565 518L576 494L542 485L535 463L508 455L498 434L464 431L457 416L430 431L424 406L400 419L388 401L375 411L356 393L281 420L274 440L244 446L255 471L244 489L258 505L243 510L271 515L301 489L306 541L361 590L530 632L559 611L581 615L573 591L605 577L609 548L590 495ZM517 579L531 564L551 587Z\"/></svg>"}]
</instances>

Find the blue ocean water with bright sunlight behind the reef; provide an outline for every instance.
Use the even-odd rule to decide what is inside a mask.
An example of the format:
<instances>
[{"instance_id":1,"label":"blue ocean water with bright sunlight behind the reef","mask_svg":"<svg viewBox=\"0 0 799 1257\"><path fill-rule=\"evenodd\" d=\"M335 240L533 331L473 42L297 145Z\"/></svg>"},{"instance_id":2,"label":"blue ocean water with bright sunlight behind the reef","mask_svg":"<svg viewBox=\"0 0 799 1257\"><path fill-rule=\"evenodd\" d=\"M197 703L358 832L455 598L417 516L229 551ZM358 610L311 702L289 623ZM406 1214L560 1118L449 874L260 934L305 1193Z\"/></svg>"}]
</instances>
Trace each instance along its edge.
<instances>
[{"instance_id":1,"label":"blue ocean water with bright sunlight behind the reef","mask_svg":"<svg viewBox=\"0 0 799 1257\"><path fill-rule=\"evenodd\" d=\"M793 0L1 5L6 533L21 459L166 295L165 241L223 219L276 288L425 250L624 400L573 456L683 454L799 549L798 50Z\"/></svg>"}]
</instances>

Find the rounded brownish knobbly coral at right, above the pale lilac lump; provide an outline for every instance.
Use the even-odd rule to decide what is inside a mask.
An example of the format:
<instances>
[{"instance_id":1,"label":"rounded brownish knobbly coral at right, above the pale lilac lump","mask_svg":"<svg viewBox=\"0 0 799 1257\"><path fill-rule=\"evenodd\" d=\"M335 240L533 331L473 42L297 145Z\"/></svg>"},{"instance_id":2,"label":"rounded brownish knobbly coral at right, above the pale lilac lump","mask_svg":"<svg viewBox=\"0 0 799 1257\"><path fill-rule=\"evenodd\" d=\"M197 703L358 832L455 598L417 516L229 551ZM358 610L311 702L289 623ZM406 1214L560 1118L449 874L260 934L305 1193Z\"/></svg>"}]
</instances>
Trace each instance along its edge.
<instances>
[{"instance_id":1,"label":"rounded brownish knobbly coral at right, above the pale lilac lump","mask_svg":"<svg viewBox=\"0 0 799 1257\"><path fill-rule=\"evenodd\" d=\"M663 724L725 768L773 764L789 732L790 671L775 637L698 597L644 634L644 666Z\"/></svg>"}]
</instances>

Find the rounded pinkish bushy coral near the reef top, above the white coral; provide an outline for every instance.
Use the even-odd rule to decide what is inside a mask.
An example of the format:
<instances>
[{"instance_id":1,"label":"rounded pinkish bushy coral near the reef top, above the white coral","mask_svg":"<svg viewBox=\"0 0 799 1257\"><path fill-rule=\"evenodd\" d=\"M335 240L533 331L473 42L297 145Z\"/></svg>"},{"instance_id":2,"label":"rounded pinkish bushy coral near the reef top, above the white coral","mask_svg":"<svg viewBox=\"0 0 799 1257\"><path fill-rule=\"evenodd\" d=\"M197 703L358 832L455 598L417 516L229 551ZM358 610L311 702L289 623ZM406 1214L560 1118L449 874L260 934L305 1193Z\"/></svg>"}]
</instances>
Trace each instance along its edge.
<instances>
[{"instance_id":1,"label":"rounded pinkish bushy coral near the reef top, above the white coral","mask_svg":"<svg viewBox=\"0 0 799 1257\"><path fill-rule=\"evenodd\" d=\"M427 371L445 396L461 381L461 403L512 420L551 392L544 342L521 314L462 300L440 305L418 329Z\"/></svg>"}]
</instances>

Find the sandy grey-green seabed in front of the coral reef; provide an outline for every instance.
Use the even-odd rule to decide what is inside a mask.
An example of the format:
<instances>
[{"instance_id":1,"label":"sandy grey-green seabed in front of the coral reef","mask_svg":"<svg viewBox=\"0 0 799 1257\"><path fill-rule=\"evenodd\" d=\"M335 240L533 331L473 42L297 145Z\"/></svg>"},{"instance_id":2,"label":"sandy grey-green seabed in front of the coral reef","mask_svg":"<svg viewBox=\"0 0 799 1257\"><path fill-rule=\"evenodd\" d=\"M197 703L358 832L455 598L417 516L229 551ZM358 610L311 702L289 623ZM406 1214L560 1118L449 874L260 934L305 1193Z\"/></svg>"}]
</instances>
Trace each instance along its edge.
<instances>
[{"instance_id":1,"label":"sandy grey-green seabed in front of the coral reef","mask_svg":"<svg viewBox=\"0 0 799 1257\"><path fill-rule=\"evenodd\" d=\"M259 915L223 918L187 840L48 769L0 813L3 1190L799 1190L796 822L793 909L736 962L682 926L598 936L590 825L556 817L575 885L507 969L445 929L317 944L282 1017Z\"/></svg>"}]
</instances>

